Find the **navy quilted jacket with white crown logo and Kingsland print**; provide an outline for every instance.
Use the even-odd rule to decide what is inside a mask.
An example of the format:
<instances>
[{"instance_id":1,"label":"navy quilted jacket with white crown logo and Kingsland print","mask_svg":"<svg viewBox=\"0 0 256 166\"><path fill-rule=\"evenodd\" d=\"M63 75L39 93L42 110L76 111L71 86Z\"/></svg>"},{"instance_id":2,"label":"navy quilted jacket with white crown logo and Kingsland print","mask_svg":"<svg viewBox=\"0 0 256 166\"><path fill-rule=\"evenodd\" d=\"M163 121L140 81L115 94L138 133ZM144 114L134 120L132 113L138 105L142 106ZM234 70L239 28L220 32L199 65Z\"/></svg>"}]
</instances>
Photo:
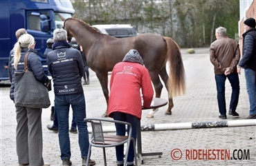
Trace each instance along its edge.
<instances>
[{"instance_id":1,"label":"navy quilted jacket with white crown logo and Kingsland print","mask_svg":"<svg viewBox=\"0 0 256 166\"><path fill-rule=\"evenodd\" d=\"M83 93L84 63L78 50L71 48L66 41L54 43L53 51L47 54L47 64L55 95Z\"/></svg>"}]
</instances>

